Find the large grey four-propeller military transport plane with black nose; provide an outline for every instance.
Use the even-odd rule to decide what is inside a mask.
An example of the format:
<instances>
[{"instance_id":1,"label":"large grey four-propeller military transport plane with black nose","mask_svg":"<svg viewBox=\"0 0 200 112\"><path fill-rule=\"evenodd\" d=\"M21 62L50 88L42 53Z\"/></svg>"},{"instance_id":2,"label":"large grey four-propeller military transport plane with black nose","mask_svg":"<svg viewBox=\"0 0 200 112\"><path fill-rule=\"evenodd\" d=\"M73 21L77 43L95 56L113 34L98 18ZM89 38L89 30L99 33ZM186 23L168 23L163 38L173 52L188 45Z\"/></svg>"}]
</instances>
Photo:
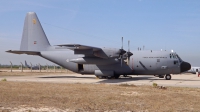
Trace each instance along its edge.
<instances>
[{"instance_id":1,"label":"large grey four-propeller military transport plane with black nose","mask_svg":"<svg viewBox=\"0 0 200 112\"><path fill-rule=\"evenodd\" d=\"M179 74L191 67L176 53L152 50L130 52L130 49L123 49L123 44L121 49L81 44L51 46L35 12L26 15L20 50L6 52L38 55L73 72L94 74L98 78L155 75L170 80L170 74Z\"/></svg>"}]
</instances>

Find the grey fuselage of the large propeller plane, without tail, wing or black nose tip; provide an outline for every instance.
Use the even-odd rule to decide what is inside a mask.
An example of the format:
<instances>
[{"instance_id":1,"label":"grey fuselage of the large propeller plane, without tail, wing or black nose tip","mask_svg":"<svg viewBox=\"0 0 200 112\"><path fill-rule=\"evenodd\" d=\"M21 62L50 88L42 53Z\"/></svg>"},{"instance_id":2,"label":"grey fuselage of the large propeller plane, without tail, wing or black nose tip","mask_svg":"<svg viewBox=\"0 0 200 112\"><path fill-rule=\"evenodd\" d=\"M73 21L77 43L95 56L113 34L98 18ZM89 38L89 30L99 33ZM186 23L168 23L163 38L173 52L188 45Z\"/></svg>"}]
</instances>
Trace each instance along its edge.
<instances>
[{"instance_id":1,"label":"grey fuselage of the large propeller plane, without tail, wing or black nose tip","mask_svg":"<svg viewBox=\"0 0 200 112\"><path fill-rule=\"evenodd\" d=\"M102 59L91 57L90 59L97 61L94 62L92 60L93 64L89 62L90 60L88 62L86 60L85 64L71 62L70 60L73 59L84 59L84 55L76 55L72 50L59 50L51 47L48 51L40 51L41 57L81 74L95 74L95 70L114 71L114 74L118 75L164 75L181 73L180 65L182 62L176 56L176 53L168 51L133 51L132 53L133 55L130 57L129 62L125 60L121 65L120 60L116 58Z\"/></svg>"}]
</instances>

